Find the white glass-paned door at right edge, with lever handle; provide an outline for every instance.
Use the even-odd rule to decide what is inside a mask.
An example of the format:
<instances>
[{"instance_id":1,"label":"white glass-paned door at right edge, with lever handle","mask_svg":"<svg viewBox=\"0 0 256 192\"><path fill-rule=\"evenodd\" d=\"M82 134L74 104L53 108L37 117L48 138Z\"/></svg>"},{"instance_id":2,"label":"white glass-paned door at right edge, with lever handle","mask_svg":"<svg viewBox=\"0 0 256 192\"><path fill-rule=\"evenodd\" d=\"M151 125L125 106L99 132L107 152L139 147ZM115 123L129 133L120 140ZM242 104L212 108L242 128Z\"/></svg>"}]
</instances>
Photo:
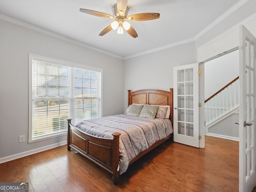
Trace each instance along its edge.
<instances>
[{"instance_id":1,"label":"white glass-paned door at right edge, with lever handle","mask_svg":"<svg viewBox=\"0 0 256 192\"><path fill-rule=\"evenodd\" d=\"M255 69L256 38L240 28L239 43L239 192L251 192L256 182Z\"/></svg>"}]
</instances>

